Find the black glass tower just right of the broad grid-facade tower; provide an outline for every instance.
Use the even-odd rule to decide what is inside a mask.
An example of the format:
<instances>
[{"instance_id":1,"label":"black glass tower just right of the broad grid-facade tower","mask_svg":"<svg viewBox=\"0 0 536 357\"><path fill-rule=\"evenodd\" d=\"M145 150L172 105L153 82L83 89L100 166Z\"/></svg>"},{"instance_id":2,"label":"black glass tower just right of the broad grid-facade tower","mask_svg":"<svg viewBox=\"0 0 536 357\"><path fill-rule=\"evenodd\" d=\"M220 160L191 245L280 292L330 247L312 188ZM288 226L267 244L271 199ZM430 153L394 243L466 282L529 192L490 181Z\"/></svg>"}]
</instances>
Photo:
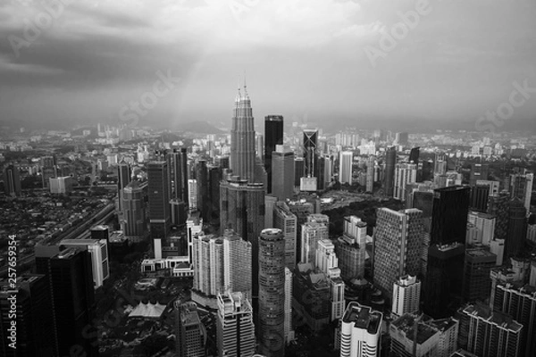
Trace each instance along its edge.
<instances>
[{"instance_id":1,"label":"black glass tower just right of the broad grid-facade tower","mask_svg":"<svg viewBox=\"0 0 536 357\"><path fill-rule=\"evenodd\" d=\"M443 187L434 190L431 213L431 244L465 243L469 187Z\"/></svg>"}]
</instances>

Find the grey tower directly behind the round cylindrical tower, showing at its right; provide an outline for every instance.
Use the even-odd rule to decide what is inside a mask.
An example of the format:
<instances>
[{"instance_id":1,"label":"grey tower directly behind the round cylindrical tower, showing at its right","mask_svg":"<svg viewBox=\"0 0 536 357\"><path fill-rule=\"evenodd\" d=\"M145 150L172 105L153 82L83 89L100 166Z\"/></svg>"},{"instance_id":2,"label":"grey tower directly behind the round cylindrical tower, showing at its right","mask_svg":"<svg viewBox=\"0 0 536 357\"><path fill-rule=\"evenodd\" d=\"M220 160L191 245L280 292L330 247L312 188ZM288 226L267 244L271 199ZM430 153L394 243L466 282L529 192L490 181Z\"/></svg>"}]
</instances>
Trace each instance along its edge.
<instances>
[{"instance_id":1,"label":"grey tower directly behind the round cylindrical tower, showing at its right","mask_svg":"<svg viewBox=\"0 0 536 357\"><path fill-rule=\"evenodd\" d=\"M290 212L287 203L275 203L273 207L273 228L283 231L285 236L285 265L289 270L294 270L297 252L297 217Z\"/></svg>"}]
</instances>

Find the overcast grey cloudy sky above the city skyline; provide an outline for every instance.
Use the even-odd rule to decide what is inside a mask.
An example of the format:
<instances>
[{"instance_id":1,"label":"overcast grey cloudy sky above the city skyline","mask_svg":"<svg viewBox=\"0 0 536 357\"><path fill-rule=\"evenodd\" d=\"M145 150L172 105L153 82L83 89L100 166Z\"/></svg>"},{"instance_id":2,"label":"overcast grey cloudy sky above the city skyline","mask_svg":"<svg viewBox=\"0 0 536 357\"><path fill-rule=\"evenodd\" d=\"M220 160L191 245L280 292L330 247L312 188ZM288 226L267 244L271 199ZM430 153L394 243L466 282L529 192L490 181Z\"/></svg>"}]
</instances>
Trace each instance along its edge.
<instances>
[{"instance_id":1,"label":"overcast grey cloudy sky above the city skyline","mask_svg":"<svg viewBox=\"0 0 536 357\"><path fill-rule=\"evenodd\" d=\"M0 120L226 125L246 73L257 124L471 128L536 88L536 2L422 3L0 0ZM536 89L514 97L534 124Z\"/></svg>"}]
</instances>

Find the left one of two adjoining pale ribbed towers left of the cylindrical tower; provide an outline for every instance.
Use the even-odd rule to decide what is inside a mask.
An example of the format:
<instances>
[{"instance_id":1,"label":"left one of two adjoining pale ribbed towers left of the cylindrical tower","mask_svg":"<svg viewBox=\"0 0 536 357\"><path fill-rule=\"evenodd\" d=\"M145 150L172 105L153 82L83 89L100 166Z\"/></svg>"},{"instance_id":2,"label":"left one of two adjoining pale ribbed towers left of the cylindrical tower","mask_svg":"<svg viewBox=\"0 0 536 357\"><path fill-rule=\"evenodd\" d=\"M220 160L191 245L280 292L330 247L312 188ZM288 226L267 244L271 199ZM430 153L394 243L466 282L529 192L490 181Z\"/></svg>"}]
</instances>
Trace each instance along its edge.
<instances>
[{"instance_id":1,"label":"left one of two adjoining pale ribbed towers left of the cylindrical tower","mask_svg":"<svg viewBox=\"0 0 536 357\"><path fill-rule=\"evenodd\" d=\"M192 237L194 265L193 290L205 295L225 291L223 240L220 237L197 235Z\"/></svg>"}]
</instances>

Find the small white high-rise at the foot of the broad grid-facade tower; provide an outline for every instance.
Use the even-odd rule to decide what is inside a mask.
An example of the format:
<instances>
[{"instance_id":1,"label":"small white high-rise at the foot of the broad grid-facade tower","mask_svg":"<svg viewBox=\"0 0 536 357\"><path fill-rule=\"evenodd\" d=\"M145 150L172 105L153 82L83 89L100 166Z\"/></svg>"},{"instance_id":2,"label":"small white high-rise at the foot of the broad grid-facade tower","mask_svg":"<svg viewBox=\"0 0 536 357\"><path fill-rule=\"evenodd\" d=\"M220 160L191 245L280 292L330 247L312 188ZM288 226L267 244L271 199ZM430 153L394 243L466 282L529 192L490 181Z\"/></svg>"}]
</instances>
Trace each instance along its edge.
<instances>
[{"instance_id":1,"label":"small white high-rise at the foot of the broad grid-facade tower","mask_svg":"<svg viewBox=\"0 0 536 357\"><path fill-rule=\"evenodd\" d=\"M393 283L393 303L391 311L402 316L420 310L421 281L417 277L405 275Z\"/></svg>"}]
</instances>

